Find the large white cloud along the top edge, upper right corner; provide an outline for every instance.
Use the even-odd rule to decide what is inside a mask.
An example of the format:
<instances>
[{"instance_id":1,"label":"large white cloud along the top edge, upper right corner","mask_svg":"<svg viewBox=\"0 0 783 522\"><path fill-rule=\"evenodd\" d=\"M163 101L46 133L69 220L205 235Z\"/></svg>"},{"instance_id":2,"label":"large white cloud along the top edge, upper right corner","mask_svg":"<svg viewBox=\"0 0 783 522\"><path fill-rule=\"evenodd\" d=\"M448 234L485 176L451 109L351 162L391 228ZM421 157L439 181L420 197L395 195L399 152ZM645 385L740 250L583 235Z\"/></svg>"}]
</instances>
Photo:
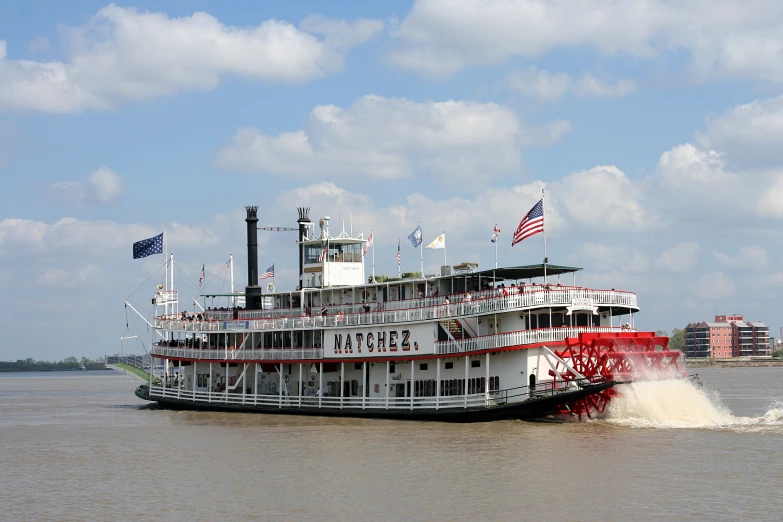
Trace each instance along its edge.
<instances>
[{"instance_id":1,"label":"large white cloud along the top edge, upper right corner","mask_svg":"<svg viewBox=\"0 0 783 522\"><path fill-rule=\"evenodd\" d=\"M772 0L417 0L389 60L433 75L585 46L607 56L690 54L698 78L783 81L783 5Z\"/></svg>"}]
</instances>

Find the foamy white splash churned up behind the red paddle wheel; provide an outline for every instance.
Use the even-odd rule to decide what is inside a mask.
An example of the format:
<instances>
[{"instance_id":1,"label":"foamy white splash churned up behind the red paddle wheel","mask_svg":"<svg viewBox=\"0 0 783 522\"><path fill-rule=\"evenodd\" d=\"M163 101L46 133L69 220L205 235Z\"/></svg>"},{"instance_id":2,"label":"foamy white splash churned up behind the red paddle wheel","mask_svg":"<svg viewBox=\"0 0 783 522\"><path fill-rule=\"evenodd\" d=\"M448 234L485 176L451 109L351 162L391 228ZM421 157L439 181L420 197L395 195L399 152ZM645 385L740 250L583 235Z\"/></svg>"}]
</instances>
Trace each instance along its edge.
<instances>
[{"instance_id":1,"label":"foamy white splash churned up behind the red paddle wheel","mask_svg":"<svg viewBox=\"0 0 783 522\"><path fill-rule=\"evenodd\" d=\"M716 392L685 379L637 381L617 387L606 422L631 428L712 428L756 431L783 428L783 404L761 417L735 417Z\"/></svg>"}]
</instances>

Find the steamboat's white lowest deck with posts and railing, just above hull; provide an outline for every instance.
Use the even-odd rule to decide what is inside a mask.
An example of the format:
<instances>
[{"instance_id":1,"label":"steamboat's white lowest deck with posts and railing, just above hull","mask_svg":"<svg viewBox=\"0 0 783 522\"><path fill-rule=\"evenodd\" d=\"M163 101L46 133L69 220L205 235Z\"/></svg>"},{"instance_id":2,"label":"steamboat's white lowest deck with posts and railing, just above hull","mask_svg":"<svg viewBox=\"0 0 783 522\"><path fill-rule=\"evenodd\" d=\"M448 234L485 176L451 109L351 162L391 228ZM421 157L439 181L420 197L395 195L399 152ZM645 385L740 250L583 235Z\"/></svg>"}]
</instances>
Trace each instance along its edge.
<instances>
[{"instance_id":1,"label":"steamboat's white lowest deck with posts and railing, just above hull","mask_svg":"<svg viewBox=\"0 0 783 522\"><path fill-rule=\"evenodd\" d=\"M546 347L359 362L163 359L162 375L145 398L170 405L294 411L445 412L506 407L595 384L564 380L559 363Z\"/></svg>"}]
</instances>

